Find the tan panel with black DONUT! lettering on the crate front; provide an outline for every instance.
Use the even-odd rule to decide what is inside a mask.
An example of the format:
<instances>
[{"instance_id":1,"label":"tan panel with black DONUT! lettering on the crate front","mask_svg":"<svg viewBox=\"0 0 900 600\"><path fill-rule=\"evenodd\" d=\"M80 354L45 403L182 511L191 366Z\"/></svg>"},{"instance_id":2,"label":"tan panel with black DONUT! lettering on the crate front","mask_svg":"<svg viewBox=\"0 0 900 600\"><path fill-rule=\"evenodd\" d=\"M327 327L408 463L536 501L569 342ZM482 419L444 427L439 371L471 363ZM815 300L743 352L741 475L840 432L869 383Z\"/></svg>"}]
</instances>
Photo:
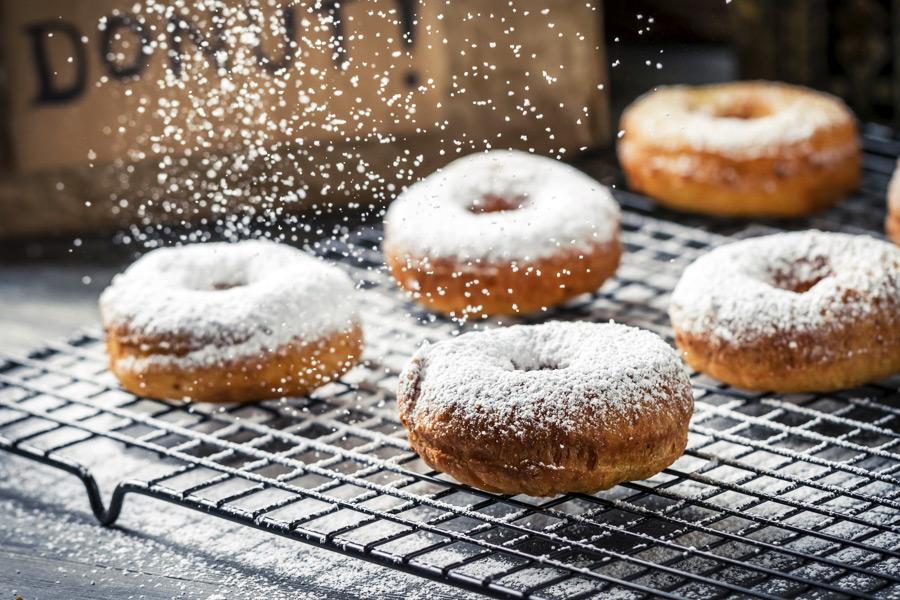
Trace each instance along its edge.
<instances>
[{"instance_id":1,"label":"tan panel with black DONUT! lettering on the crate front","mask_svg":"<svg viewBox=\"0 0 900 600\"><path fill-rule=\"evenodd\" d=\"M428 6L9 1L14 164L48 169L433 124L447 78L431 39L440 31L417 26L439 23Z\"/></svg>"}]
</instances>

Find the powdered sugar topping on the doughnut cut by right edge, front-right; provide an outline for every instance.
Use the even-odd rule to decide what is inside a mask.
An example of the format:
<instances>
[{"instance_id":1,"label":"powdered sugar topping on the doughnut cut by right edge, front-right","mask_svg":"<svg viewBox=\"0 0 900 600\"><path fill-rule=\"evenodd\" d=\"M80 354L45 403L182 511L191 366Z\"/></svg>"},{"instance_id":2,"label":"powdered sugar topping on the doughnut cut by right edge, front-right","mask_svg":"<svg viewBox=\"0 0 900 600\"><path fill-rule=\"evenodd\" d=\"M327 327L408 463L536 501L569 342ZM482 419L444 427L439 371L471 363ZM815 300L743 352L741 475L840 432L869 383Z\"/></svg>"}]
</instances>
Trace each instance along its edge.
<instances>
[{"instance_id":1,"label":"powdered sugar topping on the doughnut cut by right edge, front-right","mask_svg":"<svg viewBox=\"0 0 900 600\"><path fill-rule=\"evenodd\" d=\"M739 346L852 326L876 305L898 304L900 248L812 230L751 238L700 257L675 286L669 315L678 329ZM821 351L826 358L830 349Z\"/></svg>"}]
</instances>

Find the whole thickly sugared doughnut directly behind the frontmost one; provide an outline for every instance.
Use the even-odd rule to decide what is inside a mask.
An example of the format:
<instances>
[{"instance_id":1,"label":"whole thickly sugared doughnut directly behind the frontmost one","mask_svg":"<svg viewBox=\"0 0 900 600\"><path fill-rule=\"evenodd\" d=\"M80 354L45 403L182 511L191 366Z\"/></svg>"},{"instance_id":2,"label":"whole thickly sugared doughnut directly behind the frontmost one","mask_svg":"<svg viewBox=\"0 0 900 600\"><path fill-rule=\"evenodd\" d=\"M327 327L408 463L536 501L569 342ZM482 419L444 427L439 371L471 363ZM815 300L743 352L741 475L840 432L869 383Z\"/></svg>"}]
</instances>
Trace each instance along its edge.
<instances>
[{"instance_id":1,"label":"whole thickly sugared doughnut directly behind the frontmost one","mask_svg":"<svg viewBox=\"0 0 900 600\"><path fill-rule=\"evenodd\" d=\"M619 265L619 207L559 161L518 151L460 158L385 217L397 284L451 316L529 313L593 292Z\"/></svg>"}]
</instances>

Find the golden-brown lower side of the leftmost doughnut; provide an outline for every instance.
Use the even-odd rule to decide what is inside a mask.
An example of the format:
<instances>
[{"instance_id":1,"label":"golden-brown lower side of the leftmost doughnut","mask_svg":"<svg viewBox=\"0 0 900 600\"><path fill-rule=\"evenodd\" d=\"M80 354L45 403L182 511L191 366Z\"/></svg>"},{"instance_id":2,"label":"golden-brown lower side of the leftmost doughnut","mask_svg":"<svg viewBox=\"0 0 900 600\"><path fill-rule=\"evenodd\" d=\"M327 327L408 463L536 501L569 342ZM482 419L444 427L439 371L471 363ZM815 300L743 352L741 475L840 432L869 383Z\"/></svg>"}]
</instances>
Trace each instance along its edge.
<instances>
[{"instance_id":1,"label":"golden-brown lower side of the leftmost doughnut","mask_svg":"<svg viewBox=\"0 0 900 600\"><path fill-rule=\"evenodd\" d=\"M139 396L193 402L249 402L302 396L337 379L358 361L362 329L354 324L305 344L288 344L247 360L226 360L213 365L187 361L142 359L184 355L185 340L150 341L126 331L110 329L106 338L110 370L122 387ZM173 348L175 350L173 350ZM136 362L137 361L137 362ZM146 362L146 361L144 361Z\"/></svg>"}]
</instances>

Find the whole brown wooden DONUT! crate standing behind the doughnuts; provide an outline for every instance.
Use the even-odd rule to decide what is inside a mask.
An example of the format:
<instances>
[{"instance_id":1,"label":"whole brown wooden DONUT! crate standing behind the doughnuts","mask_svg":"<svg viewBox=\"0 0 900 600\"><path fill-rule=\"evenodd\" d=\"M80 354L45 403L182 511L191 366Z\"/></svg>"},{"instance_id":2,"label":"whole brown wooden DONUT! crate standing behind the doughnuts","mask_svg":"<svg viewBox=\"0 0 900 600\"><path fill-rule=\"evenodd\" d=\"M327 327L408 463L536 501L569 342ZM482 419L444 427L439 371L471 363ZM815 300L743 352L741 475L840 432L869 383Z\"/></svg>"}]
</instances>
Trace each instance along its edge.
<instances>
[{"instance_id":1,"label":"whole brown wooden DONUT! crate standing behind the doughnuts","mask_svg":"<svg viewBox=\"0 0 900 600\"><path fill-rule=\"evenodd\" d=\"M0 11L0 239L385 203L471 152L609 140L599 0Z\"/></svg>"}]
</instances>

